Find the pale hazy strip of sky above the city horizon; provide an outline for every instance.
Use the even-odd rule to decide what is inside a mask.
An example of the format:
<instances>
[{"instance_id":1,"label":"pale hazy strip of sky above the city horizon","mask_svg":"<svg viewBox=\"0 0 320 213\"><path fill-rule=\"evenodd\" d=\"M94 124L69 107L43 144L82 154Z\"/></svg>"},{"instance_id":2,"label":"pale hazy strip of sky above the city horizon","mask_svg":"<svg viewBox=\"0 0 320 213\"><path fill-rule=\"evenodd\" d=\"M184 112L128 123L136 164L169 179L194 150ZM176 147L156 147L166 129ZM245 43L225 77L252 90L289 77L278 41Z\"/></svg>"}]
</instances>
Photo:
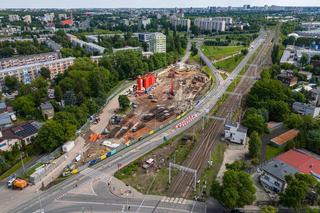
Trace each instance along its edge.
<instances>
[{"instance_id":1,"label":"pale hazy strip of sky above the city horizon","mask_svg":"<svg viewBox=\"0 0 320 213\"><path fill-rule=\"evenodd\" d=\"M168 8L207 6L320 6L320 0L0 0L0 8Z\"/></svg>"}]
</instances>

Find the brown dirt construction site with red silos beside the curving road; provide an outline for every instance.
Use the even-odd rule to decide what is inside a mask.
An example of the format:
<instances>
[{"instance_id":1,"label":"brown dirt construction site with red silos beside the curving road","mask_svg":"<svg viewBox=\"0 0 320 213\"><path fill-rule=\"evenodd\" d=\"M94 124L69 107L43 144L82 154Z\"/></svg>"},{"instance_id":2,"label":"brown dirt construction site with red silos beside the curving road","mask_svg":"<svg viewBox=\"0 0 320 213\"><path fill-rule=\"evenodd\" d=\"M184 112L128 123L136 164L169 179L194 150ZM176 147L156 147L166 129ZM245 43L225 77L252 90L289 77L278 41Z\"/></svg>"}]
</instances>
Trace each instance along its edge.
<instances>
[{"instance_id":1,"label":"brown dirt construction site with red silos beside the curving road","mask_svg":"<svg viewBox=\"0 0 320 213\"><path fill-rule=\"evenodd\" d=\"M158 73L138 76L124 92L130 100L125 112L117 109L101 134L87 135L84 162L109 157L106 153L153 134L188 111L209 90L210 77L198 66L178 63ZM105 122L96 119L94 122Z\"/></svg>"}]
</instances>

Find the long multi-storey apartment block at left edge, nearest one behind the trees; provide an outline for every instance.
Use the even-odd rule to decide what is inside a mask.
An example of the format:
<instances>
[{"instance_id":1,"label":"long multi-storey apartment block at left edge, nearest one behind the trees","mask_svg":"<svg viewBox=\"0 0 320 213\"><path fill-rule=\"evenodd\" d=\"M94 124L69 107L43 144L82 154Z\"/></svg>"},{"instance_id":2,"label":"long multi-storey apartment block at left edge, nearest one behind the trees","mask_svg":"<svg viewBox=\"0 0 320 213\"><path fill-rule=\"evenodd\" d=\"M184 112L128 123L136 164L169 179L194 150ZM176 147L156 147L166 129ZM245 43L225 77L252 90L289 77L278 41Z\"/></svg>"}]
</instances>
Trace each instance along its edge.
<instances>
[{"instance_id":1,"label":"long multi-storey apartment block at left edge, nearest one behind the trees","mask_svg":"<svg viewBox=\"0 0 320 213\"><path fill-rule=\"evenodd\" d=\"M55 78L58 74L64 73L71 65L73 65L75 58L62 58L53 61L46 61L41 63L29 64L19 67L11 67L0 70L0 84L3 86L4 78L6 76L15 76L20 82L29 84L33 79L39 76L40 69L46 67L50 70L51 79Z\"/></svg>"}]
</instances>

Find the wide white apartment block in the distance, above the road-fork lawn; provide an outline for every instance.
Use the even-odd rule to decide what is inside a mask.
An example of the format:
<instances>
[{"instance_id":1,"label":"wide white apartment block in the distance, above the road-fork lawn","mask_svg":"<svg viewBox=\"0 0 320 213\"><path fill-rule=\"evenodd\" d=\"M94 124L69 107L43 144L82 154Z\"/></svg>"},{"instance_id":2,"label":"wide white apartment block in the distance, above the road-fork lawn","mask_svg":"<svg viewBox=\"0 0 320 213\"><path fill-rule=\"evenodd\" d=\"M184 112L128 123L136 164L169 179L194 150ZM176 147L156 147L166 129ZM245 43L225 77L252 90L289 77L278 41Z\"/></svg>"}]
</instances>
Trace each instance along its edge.
<instances>
[{"instance_id":1,"label":"wide white apartment block in the distance, above the road-fork lawn","mask_svg":"<svg viewBox=\"0 0 320 213\"><path fill-rule=\"evenodd\" d=\"M214 18L196 18L194 20L195 26L200 30L205 31L226 31L226 21L215 20Z\"/></svg>"}]
</instances>

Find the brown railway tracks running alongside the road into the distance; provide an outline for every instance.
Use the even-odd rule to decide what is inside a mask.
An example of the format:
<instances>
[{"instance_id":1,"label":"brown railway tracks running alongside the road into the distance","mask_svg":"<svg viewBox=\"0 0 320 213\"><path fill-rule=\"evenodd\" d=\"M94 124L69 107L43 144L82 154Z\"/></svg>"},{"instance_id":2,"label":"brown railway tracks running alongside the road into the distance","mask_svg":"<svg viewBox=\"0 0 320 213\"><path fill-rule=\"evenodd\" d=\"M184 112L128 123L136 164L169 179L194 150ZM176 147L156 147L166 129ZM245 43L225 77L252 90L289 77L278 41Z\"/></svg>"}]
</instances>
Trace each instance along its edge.
<instances>
[{"instance_id":1,"label":"brown railway tracks running alongside the road into the distance","mask_svg":"<svg viewBox=\"0 0 320 213\"><path fill-rule=\"evenodd\" d=\"M260 48L257 56L253 60L253 66L250 66L246 71L246 76L256 77L258 74L258 67L269 60L268 55L270 53L270 48L272 47L272 39L274 35L275 34L272 32L268 36L268 39L263 44L263 47ZM242 78L235 88L234 93L247 93L254 82L254 78ZM235 111L235 107L240 107L240 102L241 100L239 100L239 96L230 95L219 108L217 116L229 116L233 111ZM206 130L202 133L199 142L197 142L189 157L183 163L183 166L196 169L198 174L201 174L201 172L206 168L210 153L215 148L219 137L221 137L223 129L224 124L221 121L214 120L213 122L209 122ZM168 196L187 198L193 191L193 180L194 178L192 174L179 172L172 180L171 186L168 190Z\"/></svg>"}]
</instances>

